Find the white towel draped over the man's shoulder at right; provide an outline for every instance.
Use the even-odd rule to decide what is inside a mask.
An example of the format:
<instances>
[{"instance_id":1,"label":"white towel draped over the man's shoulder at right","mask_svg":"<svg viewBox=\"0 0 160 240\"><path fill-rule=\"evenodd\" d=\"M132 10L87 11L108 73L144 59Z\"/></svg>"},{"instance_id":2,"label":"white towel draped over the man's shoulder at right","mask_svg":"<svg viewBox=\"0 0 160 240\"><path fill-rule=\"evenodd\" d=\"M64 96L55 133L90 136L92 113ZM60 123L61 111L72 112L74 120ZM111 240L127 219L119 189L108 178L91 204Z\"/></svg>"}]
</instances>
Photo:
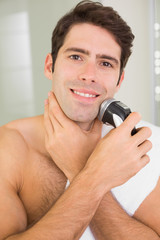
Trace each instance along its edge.
<instances>
[{"instance_id":1,"label":"white towel draped over the man's shoulder at right","mask_svg":"<svg viewBox=\"0 0 160 240\"><path fill-rule=\"evenodd\" d=\"M111 190L122 208L130 216L135 213L144 199L153 191L160 176L160 127L154 126L145 121L141 121L137 125L137 127L141 126L148 126L152 130L150 140L153 147L148 153L150 156L150 163L125 184ZM111 126L104 125L102 129L102 137L111 129ZM80 238L80 240L86 239L94 240L89 227Z\"/></svg>"}]
</instances>

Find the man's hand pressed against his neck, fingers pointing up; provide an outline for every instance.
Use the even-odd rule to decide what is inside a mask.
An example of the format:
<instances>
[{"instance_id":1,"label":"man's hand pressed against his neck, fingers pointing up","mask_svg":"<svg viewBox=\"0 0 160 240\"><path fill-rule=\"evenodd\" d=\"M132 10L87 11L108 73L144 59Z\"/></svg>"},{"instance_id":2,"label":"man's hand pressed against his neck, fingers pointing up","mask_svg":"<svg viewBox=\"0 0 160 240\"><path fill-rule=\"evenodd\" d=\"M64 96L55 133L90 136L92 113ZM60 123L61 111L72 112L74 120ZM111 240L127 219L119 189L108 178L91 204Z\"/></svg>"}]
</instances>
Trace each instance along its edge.
<instances>
[{"instance_id":1,"label":"man's hand pressed against his neck, fingers pointing up","mask_svg":"<svg viewBox=\"0 0 160 240\"><path fill-rule=\"evenodd\" d=\"M102 123L97 119L90 131L83 131L63 113L54 94L50 92L45 102L44 124L46 149L72 181L100 140Z\"/></svg>"}]
</instances>

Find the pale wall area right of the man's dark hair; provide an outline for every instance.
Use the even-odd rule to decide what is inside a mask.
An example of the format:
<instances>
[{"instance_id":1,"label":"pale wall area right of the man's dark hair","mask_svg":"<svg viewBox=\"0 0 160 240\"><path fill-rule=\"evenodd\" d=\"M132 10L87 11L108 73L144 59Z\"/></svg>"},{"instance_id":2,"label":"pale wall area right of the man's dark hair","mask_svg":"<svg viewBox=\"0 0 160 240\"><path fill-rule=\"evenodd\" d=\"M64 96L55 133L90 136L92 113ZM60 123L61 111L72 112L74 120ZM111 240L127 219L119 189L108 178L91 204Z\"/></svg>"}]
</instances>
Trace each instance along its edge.
<instances>
[{"instance_id":1,"label":"pale wall area right of the man's dark hair","mask_svg":"<svg viewBox=\"0 0 160 240\"><path fill-rule=\"evenodd\" d=\"M152 121L153 79L152 52L150 50L150 1L149 0L103 0L112 6L131 26L135 35L133 53L127 64L125 80L116 98L139 111L144 120Z\"/></svg>"}]
</instances>

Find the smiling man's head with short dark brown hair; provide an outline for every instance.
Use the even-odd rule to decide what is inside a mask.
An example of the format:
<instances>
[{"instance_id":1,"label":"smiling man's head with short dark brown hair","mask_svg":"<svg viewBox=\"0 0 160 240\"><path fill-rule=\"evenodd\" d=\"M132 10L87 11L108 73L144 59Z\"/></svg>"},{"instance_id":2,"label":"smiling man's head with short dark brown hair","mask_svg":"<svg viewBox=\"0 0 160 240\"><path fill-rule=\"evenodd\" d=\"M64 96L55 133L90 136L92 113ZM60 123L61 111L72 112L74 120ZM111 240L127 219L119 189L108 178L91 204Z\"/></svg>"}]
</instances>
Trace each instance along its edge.
<instances>
[{"instance_id":1,"label":"smiling man's head with short dark brown hair","mask_svg":"<svg viewBox=\"0 0 160 240\"><path fill-rule=\"evenodd\" d=\"M100 104L119 90L133 38L112 8L91 1L58 22L45 75L63 112L82 128L89 129Z\"/></svg>"}]
</instances>

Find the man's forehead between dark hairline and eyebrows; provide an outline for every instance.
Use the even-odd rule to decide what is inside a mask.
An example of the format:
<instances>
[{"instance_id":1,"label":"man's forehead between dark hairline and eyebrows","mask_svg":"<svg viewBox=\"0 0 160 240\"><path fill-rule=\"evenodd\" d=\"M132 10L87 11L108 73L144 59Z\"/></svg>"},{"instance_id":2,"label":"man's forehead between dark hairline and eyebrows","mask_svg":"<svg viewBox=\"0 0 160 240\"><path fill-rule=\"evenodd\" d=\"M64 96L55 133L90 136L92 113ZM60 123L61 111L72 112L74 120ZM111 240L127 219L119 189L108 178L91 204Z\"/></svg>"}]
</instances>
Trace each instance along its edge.
<instances>
[{"instance_id":1,"label":"man's forehead between dark hairline and eyebrows","mask_svg":"<svg viewBox=\"0 0 160 240\"><path fill-rule=\"evenodd\" d=\"M115 58L115 62L119 62L121 57L121 47L115 37L106 29L89 23L73 25L62 48L63 51L74 50L86 55L95 51L97 57L111 56Z\"/></svg>"}]
</instances>

